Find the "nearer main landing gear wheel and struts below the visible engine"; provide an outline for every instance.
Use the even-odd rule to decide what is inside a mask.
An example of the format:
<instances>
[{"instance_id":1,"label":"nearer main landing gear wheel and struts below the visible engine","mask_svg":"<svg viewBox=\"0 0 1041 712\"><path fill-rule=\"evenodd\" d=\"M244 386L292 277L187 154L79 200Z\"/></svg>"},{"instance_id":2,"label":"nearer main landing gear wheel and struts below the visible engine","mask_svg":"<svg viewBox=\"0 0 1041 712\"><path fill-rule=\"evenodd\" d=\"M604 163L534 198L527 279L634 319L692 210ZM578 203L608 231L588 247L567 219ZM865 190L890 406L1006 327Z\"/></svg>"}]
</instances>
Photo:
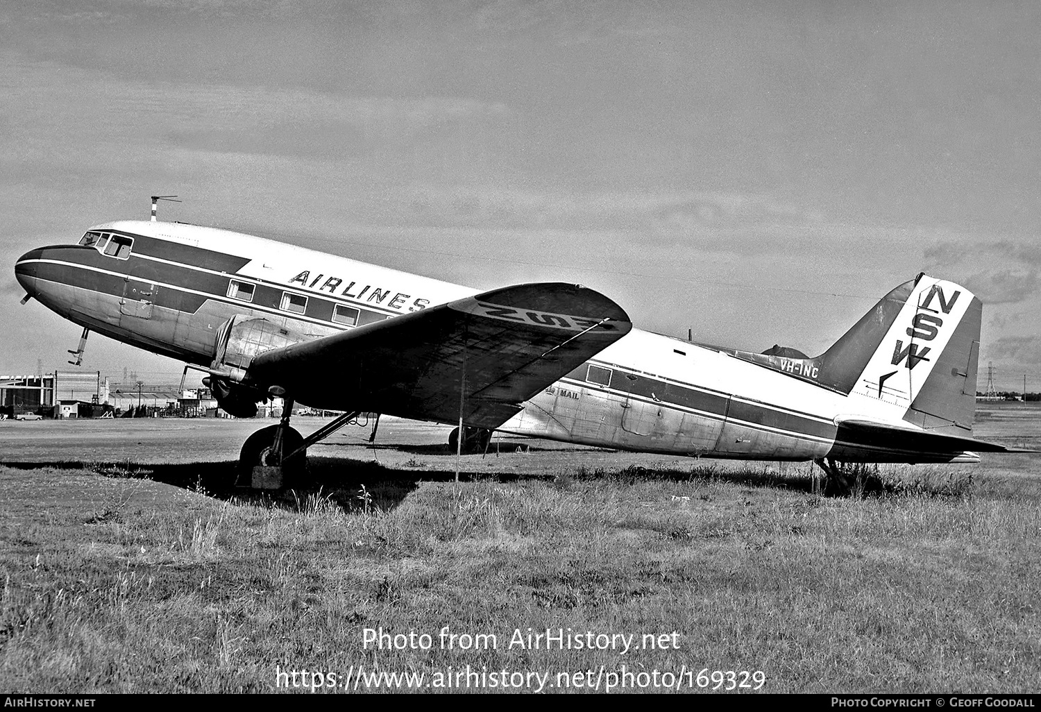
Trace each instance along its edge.
<instances>
[{"instance_id":1,"label":"nearer main landing gear wheel and struts below the visible engine","mask_svg":"<svg viewBox=\"0 0 1041 712\"><path fill-rule=\"evenodd\" d=\"M357 411L344 413L303 437L289 427L293 399L286 397L279 424L261 428L243 444L235 484L253 489L281 489L298 481L307 468L307 449L332 435L358 414Z\"/></svg>"}]
</instances>

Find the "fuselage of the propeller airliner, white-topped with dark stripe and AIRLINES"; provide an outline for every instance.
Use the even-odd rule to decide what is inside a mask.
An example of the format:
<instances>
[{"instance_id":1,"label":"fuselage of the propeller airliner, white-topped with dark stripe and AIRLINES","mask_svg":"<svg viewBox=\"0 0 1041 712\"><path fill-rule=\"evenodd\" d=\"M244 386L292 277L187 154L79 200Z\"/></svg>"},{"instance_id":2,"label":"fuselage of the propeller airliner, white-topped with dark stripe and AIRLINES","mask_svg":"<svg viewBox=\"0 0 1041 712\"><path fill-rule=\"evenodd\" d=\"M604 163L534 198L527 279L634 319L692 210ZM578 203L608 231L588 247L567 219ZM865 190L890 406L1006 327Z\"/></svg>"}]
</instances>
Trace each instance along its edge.
<instances>
[{"instance_id":1,"label":"fuselage of the propeller airliner, white-topped with dark stripe and AIRLINES","mask_svg":"<svg viewBox=\"0 0 1041 712\"><path fill-rule=\"evenodd\" d=\"M214 358L221 325L235 314L320 337L478 291L194 225L125 221L91 228L87 235L86 245L30 251L16 266L19 281L76 324L203 366ZM871 406L858 404L864 407ZM633 329L524 403L499 430L709 457L974 459L836 443L836 417L849 410L847 395L810 379L729 350Z\"/></svg>"}]
</instances>

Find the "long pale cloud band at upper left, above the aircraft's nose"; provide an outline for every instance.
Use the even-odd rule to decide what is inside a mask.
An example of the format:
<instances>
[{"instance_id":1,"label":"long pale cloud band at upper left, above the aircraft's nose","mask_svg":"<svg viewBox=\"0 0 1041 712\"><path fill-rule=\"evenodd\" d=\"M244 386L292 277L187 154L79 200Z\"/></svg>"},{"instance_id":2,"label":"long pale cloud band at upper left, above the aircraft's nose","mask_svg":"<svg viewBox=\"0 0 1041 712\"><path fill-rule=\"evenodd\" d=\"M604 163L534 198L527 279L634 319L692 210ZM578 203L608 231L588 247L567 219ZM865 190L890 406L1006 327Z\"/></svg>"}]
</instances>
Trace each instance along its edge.
<instances>
[{"instance_id":1,"label":"long pale cloud band at upper left, above the aircraft's nose","mask_svg":"<svg viewBox=\"0 0 1041 712\"><path fill-rule=\"evenodd\" d=\"M112 193L149 182L186 187L221 167L233 168L232 179L242 181L244 169L254 167L265 183L321 173L314 182L327 195L339 184L372 192L381 181L430 171L473 178L484 157L471 142L503 135L513 120L507 104L471 97L148 82L0 50L5 60L19 79L0 82L7 139L0 187L31 183L39 190L47 181L104 184ZM171 175L185 151L193 155Z\"/></svg>"}]
</instances>

